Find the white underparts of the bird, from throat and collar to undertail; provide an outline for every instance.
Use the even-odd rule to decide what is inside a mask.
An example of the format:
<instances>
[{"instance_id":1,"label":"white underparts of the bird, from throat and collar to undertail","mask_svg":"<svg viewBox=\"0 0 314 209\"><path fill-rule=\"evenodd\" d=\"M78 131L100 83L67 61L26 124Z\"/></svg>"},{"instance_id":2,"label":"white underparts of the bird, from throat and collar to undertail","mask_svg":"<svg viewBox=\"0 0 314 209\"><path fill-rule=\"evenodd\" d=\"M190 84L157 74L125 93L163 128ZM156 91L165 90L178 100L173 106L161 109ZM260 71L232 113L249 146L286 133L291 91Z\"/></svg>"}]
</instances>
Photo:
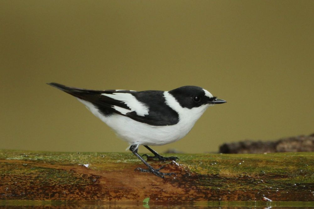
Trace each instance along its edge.
<instances>
[{"instance_id":1,"label":"white underparts of the bird, from throat and collar to undertail","mask_svg":"<svg viewBox=\"0 0 314 209\"><path fill-rule=\"evenodd\" d=\"M166 103L179 115L179 122L169 126L152 126L140 123L126 116L113 113L110 116L103 116L95 106L84 100L82 102L95 116L100 118L116 134L126 140L129 144L138 145L164 145L175 142L190 132L198 118L209 105L202 105L192 109L183 108L176 102L176 99L167 91L164 93Z\"/></svg>"}]
</instances>

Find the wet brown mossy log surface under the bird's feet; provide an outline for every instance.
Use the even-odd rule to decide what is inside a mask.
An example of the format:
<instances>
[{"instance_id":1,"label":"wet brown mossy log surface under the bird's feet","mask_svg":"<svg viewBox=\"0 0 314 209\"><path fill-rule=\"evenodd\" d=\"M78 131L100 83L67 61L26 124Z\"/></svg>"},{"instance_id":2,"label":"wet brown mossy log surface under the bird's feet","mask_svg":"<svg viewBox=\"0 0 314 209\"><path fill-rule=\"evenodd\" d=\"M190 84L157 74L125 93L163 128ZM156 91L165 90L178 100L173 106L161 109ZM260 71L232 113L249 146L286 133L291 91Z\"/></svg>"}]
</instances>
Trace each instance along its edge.
<instances>
[{"instance_id":1,"label":"wet brown mossy log surface under the bird's feet","mask_svg":"<svg viewBox=\"0 0 314 209\"><path fill-rule=\"evenodd\" d=\"M177 174L161 179L131 153L0 150L0 200L314 201L314 153L177 156L149 161Z\"/></svg>"}]
</instances>

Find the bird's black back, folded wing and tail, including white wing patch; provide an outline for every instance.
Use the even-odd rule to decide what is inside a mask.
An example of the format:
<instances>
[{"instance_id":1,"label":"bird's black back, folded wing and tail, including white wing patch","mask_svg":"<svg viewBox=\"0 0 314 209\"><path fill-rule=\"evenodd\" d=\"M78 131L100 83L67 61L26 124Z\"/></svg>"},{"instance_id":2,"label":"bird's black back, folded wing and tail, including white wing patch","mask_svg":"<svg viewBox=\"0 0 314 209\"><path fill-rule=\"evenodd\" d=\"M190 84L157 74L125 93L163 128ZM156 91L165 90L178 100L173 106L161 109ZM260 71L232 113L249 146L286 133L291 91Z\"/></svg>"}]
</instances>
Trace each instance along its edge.
<instances>
[{"instance_id":1,"label":"bird's black back, folded wing and tail, including white wing patch","mask_svg":"<svg viewBox=\"0 0 314 209\"><path fill-rule=\"evenodd\" d=\"M88 90L48 83L74 97L93 103L104 115L113 112L153 126L178 123L178 113L165 104L163 91Z\"/></svg>"}]
</instances>

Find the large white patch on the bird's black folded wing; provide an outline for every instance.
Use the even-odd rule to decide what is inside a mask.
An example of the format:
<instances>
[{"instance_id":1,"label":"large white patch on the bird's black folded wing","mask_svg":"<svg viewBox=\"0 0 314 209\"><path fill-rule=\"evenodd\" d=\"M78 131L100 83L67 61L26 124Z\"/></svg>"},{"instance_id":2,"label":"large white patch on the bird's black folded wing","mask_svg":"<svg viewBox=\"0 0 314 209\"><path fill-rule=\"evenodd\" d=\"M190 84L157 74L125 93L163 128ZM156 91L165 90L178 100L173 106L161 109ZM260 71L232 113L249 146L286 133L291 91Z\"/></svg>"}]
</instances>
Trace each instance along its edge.
<instances>
[{"instance_id":1,"label":"large white patch on the bird's black folded wing","mask_svg":"<svg viewBox=\"0 0 314 209\"><path fill-rule=\"evenodd\" d=\"M139 102L132 94L116 92L112 94L104 93L101 95L124 102L131 110L125 109L123 107L113 106L113 108L115 108L117 111L121 112L124 115L128 112L133 111L135 111L136 114L139 116L148 115L149 108L144 103Z\"/></svg>"}]
</instances>

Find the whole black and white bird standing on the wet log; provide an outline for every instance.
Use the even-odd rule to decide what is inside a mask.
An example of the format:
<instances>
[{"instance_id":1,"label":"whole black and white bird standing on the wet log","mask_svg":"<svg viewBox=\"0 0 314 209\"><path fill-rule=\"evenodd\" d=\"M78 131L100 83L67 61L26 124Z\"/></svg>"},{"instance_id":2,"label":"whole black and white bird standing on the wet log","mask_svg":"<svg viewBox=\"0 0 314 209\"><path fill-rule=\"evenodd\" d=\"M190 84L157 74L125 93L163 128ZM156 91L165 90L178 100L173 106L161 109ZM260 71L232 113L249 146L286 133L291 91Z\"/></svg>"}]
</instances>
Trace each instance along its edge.
<instances>
[{"instance_id":1,"label":"whole black and white bird standing on the wet log","mask_svg":"<svg viewBox=\"0 0 314 209\"><path fill-rule=\"evenodd\" d=\"M161 178L174 173L154 169L138 154L138 146L144 145L154 156L148 159L176 160L163 157L149 146L175 142L189 133L203 112L214 104L225 103L198 86L182 86L171 91L96 91L48 83L82 102L90 112L100 118L116 134L130 144L133 152L151 172Z\"/></svg>"}]
</instances>

